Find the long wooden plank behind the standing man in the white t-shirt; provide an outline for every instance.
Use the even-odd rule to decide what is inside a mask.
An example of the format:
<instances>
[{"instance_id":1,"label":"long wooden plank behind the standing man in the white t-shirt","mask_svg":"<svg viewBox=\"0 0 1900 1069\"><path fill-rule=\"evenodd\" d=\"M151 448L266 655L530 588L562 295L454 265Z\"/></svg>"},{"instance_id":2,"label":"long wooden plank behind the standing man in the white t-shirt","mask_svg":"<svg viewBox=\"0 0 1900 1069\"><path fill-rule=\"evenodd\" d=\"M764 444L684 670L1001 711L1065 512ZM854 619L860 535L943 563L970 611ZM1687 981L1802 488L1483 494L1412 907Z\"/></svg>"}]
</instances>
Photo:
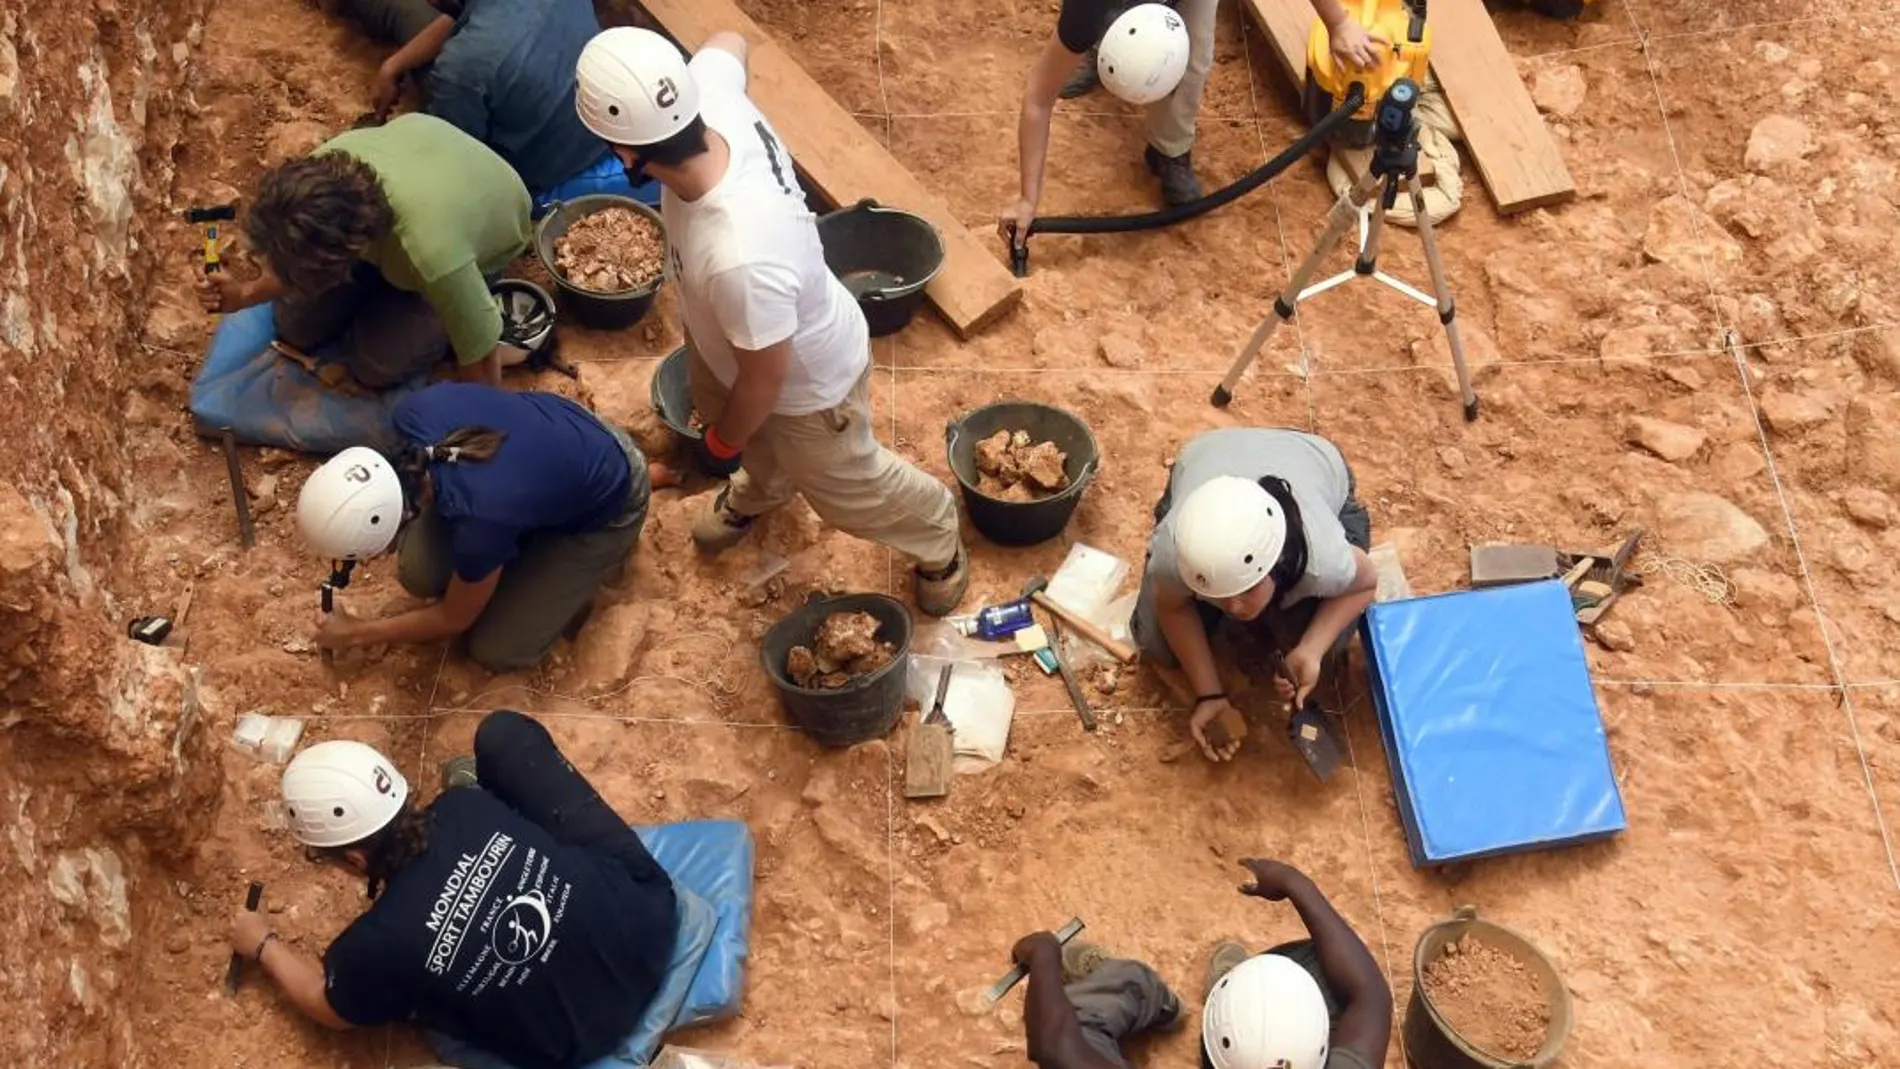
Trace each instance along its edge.
<instances>
[{"instance_id":1,"label":"long wooden plank behind the standing man in the white t-shirt","mask_svg":"<svg viewBox=\"0 0 1900 1069\"><path fill-rule=\"evenodd\" d=\"M851 205L876 197L937 226L944 239L944 268L923 292L960 336L980 332L1022 300L1022 283L998 258L1001 239L984 243L971 234L944 197L923 188L732 0L644 0L642 6L688 51L720 30L745 36L752 103L771 120L798 171L825 199Z\"/></svg>"}]
</instances>

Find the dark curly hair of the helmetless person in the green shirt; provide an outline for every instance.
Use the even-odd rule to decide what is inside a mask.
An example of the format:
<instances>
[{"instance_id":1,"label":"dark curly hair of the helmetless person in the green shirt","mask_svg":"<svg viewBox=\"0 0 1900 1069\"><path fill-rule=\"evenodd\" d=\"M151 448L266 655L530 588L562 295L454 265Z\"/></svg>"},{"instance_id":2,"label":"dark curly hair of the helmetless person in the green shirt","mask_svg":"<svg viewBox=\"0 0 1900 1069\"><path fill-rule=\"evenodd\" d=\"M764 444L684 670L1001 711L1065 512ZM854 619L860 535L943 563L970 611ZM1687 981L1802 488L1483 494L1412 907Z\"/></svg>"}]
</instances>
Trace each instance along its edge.
<instances>
[{"instance_id":1,"label":"dark curly hair of the helmetless person in the green shirt","mask_svg":"<svg viewBox=\"0 0 1900 1069\"><path fill-rule=\"evenodd\" d=\"M266 171L245 215L245 237L298 296L342 285L363 251L395 226L376 171L348 152L323 152Z\"/></svg>"}]
</instances>

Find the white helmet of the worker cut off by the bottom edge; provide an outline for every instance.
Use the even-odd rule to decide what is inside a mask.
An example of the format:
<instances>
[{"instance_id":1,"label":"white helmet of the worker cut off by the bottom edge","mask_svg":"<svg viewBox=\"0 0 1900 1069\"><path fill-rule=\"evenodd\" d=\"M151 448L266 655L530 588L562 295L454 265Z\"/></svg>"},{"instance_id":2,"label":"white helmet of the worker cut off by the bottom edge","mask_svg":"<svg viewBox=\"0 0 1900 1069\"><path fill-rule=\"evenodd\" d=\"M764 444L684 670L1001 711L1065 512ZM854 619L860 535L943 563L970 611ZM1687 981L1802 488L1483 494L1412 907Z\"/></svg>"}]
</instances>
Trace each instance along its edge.
<instances>
[{"instance_id":1,"label":"white helmet of the worker cut off by the bottom edge","mask_svg":"<svg viewBox=\"0 0 1900 1069\"><path fill-rule=\"evenodd\" d=\"M1235 965L1201 1012L1201 1048L1214 1069L1320 1069L1330 1037L1319 980L1277 953Z\"/></svg>"}]
</instances>

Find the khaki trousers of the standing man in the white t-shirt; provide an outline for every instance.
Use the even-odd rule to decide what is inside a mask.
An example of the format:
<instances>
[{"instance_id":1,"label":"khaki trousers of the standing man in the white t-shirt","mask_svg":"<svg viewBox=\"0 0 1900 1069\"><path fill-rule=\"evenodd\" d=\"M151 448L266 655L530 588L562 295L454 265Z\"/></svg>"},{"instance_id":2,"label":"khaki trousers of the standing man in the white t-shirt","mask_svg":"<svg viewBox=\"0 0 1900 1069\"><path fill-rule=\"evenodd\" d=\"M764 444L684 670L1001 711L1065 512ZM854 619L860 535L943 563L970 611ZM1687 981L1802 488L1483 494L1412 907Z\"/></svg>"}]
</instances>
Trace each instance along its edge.
<instances>
[{"instance_id":1,"label":"khaki trousers of the standing man in the white t-shirt","mask_svg":"<svg viewBox=\"0 0 1900 1069\"><path fill-rule=\"evenodd\" d=\"M718 423L732 391L688 346L694 408ZM762 516L804 494L826 524L910 554L923 568L956 558L956 497L950 488L878 442L870 427L870 368L836 406L808 416L768 416L745 444L726 503Z\"/></svg>"}]
</instances>

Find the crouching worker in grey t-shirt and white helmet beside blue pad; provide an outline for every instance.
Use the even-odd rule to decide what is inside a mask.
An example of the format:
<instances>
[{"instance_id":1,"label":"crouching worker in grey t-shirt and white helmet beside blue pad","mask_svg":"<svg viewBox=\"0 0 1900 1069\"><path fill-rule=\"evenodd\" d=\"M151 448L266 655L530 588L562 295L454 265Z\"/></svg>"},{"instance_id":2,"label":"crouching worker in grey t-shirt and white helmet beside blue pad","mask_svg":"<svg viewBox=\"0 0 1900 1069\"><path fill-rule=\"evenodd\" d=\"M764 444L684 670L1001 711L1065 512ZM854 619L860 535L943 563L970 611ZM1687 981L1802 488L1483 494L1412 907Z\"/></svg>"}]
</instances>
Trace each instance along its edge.
<instances>
[{"instance_id":1,"label":"crouching worker in grey t-shirt and white helmet beside blue pad","mask_svg":"<svg viewBox=\"0 0 1900 1069\"><path fill-rule=\"evenodd\" d=\"M1370 547L1372 516L1330 441L1235 427L1182 448L1155 505L1132 628L1144 659L1188 676L1189 731L1210 760L1231 760L1241 746L1214 746L1205 731L1231 708L1212 628L1222 617L1254 625L1284 659L1275 685L1298 706L1319 685L1320 659L1345 647L1378 592Z\"/></svg>"}]
</instances>

